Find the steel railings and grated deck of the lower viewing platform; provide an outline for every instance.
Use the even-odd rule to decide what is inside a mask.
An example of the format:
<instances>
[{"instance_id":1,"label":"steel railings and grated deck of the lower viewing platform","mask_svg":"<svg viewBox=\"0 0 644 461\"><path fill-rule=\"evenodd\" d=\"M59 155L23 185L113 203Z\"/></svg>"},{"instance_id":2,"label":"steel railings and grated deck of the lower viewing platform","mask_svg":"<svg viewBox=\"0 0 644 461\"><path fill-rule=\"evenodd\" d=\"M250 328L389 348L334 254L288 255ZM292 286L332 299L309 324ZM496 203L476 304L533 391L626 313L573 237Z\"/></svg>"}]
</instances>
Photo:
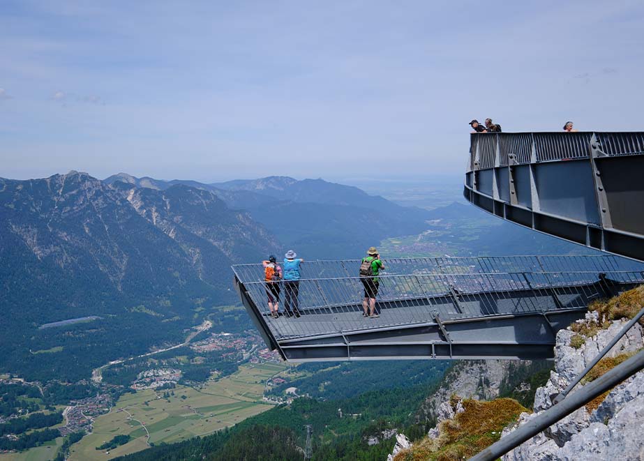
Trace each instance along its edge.
<instances>
[{"instance_id":1,"label":"steel railings and grated deck of the lower viewing platform","mask_svg":"<svg viewBox=\"0 0 644 461\"><path fill-rule=\"evenodd\" d=\"M498 315L585 309L619 287L644 282L642 264L620 271L617 257L492 257L384 259L377 294L377 321L362 317L364 285L347 275L358 261L305 262L298 287L299 319L269 315L261 264L233 266L237 280L276 340L334 335ZM557 270L570 267L576 270ZM391 269L389 269L391 268ZM520 271L509 269L521 268ZM394 273L391 273L394 272ZM402 273L401 273L402 272ZM284 311L285 283L280 287ZM291 307L294 311L294 306Z\"/></svg>"}]
</instances>

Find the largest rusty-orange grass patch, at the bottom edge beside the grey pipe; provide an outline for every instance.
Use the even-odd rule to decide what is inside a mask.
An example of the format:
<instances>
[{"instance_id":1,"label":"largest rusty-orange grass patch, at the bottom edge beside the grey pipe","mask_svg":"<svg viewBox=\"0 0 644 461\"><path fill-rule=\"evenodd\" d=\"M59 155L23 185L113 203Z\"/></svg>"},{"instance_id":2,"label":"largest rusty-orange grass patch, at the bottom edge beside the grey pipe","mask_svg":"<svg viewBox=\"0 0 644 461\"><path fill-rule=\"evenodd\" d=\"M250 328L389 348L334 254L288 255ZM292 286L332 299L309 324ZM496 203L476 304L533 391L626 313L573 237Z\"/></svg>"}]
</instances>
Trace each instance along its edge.
<instances>
[{"instance_id":1,"label":"largest rusty-orange grass patch, at the bottom edge beside the grey pipe","mask_svg":"<svg viewBox=\"0 0 644 461\"><path fill-rule=\"evenodd\" d=\"M454 399L450 399L453 406ZM395 461L451 461L470 458L501 438L505 426L528 411L516 400L500 398L489 402L463 400L463 413L440 423L437 439L426 437L401 451Z\"/></svg>"}]
</instances>

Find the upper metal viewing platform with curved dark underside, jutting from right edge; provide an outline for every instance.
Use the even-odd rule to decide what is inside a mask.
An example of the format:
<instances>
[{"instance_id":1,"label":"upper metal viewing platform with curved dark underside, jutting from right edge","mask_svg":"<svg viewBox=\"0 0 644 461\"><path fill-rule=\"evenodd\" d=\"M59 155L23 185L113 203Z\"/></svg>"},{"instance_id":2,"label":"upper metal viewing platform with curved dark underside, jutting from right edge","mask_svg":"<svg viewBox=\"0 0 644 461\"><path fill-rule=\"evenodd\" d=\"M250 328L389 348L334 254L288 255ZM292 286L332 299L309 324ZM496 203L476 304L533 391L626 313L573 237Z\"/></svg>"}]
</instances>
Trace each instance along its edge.
<instances>
[{"instance_id":1,"label":"upper metal viewing platform with curved dark underside, jutting from right edge","mask_svg":"<svg viewBox=\"0 0 644 461\"><path fill-rule=\"evenodd\" d=\"M472 134L464 195L495 216L644 261L644 133Z\"/></svg>"}]
</instances>

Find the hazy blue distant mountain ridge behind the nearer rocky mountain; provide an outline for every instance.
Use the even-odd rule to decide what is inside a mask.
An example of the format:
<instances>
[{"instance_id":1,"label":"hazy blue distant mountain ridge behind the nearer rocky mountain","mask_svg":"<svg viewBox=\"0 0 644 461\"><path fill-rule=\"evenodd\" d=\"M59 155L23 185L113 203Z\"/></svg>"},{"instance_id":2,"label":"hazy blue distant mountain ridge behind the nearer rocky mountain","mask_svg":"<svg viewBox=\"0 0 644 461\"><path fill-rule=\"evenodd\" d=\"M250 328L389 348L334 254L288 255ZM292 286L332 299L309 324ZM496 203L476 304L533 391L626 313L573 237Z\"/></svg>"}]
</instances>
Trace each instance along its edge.
<instances>
[{"instance_id":1,"label":"hazy blue distant mountain ridge behind the nearer rocky mountain","mask_svg":"<svg viewBox=\"0 0 644 461\"><path fill-rule=\"evenodd\" d=\"M105 179L108 184L117 182L156 190L179 184L209 190L230 209L247 211L273 232L283 250L293 248L305 259L361 257L366 248L384 238L423 232L431 216L424 209L400 206L359 188L322 179L269 176L206 184L135 178L124 173Z\"/></svg>"}]
</instances>

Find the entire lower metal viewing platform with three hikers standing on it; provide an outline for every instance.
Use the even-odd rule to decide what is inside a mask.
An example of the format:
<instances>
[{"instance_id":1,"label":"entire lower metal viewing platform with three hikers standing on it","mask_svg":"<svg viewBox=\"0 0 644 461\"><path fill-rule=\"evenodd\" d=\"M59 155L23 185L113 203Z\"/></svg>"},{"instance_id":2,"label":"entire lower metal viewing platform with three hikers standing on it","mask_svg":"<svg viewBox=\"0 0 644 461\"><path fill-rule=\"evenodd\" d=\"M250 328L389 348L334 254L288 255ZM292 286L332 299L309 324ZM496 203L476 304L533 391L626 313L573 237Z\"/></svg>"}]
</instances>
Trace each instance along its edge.
<instances>
[{"instance_id":1,"label":"entire lower metal viewing platform with three hikers standing on it","mask_svg":"<svg viewBox=\"0 0 644 461\"><path fill-rule=\"evenodd\" d=\"M270 349L287 361L551 358L555 335L587 305L644 282L614 256L383 259L377 312L362 317L359 260L301 265L301 317L269 315L262 264L232 267ZM284 310L284 290L280 312Z\"/></svg>"}]
</instances>

